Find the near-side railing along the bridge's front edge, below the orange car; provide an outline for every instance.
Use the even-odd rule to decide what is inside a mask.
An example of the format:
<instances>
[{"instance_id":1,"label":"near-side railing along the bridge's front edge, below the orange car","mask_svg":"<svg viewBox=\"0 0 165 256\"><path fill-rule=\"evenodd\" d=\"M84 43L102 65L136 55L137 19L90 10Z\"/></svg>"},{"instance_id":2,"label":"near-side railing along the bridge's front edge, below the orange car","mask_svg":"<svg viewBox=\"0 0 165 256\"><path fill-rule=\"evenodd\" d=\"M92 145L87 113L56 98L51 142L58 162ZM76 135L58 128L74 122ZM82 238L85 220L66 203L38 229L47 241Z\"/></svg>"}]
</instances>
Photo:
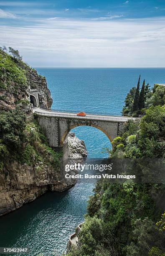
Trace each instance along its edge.
<instances>
[{"instance_id":1,"label":"near-side railing along the bridge's front edge, below the orange car","mask_svg":"<svg viewBox=\"0 0 165 256\"><path fill-rule=\"evenodd\" d=\"M39 112L39 111L36 111L35 110L35 113L37 115L43 115L43 116L52 116L52 117L60 117L60 118L73 118L73 115L69 115L69 113L66 113L66 114L62 114L62 113L54 113L54 112ZM125 120L123 120L123 116L97 116L97 115L94 115L92 116L79 116L79 115L75 115L74 118L76 119L87 119L87 120L105 120L105 121L117 121L117 122L125 122ZM135 118L132 118L133 120L135 120Z\"/></svg>"}]
</instances>

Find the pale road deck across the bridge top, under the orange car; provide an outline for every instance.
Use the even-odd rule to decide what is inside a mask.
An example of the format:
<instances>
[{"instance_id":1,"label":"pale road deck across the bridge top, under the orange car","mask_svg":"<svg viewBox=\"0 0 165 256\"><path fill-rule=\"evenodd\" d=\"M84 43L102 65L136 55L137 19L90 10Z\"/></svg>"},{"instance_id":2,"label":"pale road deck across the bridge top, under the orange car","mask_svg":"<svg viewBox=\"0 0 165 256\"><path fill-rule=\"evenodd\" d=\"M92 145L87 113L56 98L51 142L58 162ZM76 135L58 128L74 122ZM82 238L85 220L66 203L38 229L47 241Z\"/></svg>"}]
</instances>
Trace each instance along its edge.
<instances>
[{"instance_id":1,"label":"pale road deck across the bridge top, under the orange car","mask_svg":"<svg viewBox=\"0 0 165 256\"><path fill-rule=\"evenodd\" d=\"M86 116L77 116L76 113L65 113L65 112L51 112L48 110L43 110L41 108L33 107L33 113L43 116L54 116L61 118L76 118L76 119L89 119L89 120L103 120L109 122L122 122L125 123L127 120L135 120L136 118L124 117L124 116L113 116L113 115L91 115L86 114Z\"/></svg>"}]
</instances>

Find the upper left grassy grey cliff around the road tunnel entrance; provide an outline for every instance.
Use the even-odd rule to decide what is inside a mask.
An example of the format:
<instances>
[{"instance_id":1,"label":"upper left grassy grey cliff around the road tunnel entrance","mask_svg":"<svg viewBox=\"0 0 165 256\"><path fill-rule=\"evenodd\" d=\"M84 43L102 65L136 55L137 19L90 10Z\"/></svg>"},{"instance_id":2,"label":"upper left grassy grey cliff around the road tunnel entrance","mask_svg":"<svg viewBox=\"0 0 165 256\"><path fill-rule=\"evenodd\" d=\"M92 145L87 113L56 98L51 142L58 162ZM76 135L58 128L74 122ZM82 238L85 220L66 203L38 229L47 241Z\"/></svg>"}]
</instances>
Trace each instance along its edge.
<instances>
[{"instance_id":1,"label":"upper left grassy grey cliff around the road tunnel entrance","mask_svg":"<svg viewBox=\"0 0 165 256\"><path fill-rule=\"evenodd\" d=\"M51 108L52 98L46 78L23 61L15 61L0 51L0 111L19 105L25 113L32 113L30 89L38 91L40 105Z\"/></svg>"}]
</instances>

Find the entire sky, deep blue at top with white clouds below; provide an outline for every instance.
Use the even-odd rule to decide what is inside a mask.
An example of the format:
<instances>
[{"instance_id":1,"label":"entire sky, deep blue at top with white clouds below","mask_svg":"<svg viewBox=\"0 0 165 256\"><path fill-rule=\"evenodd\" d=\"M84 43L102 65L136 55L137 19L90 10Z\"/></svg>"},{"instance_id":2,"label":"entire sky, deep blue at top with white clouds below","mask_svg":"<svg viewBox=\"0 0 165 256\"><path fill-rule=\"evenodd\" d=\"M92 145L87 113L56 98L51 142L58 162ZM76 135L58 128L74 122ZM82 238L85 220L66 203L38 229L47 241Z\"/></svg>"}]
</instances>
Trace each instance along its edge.
<instances>
[{"instance_id":1,"label":"entire sky, deep blue at top with white clouds below","mask_svg":"<svg viewBox=\"0 0 165 256\"><path fill-rule=\"evenodd\" d=\"M0 46L32 67L165 67L165 0L0 0Z\"/></svg>"}]
</instances>

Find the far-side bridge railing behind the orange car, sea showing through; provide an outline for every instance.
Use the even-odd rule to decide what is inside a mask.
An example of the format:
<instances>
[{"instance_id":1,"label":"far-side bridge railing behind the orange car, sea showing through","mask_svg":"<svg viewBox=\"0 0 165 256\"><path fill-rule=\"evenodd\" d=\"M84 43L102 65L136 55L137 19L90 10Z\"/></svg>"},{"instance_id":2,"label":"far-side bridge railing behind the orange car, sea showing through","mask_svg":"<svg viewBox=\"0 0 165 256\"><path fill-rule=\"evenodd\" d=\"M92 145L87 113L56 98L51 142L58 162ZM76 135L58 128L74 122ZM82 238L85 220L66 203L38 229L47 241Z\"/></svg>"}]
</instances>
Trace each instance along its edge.
<instances>
[{"instance_id":1,"label":"far-side bridge railing behind the orange car, sea showing through","mask_svg":"<svg viewBox=\"0 0 165 256\"><path fill-rule=\"evenodd\" d=\"M59 109L52 109L52 108L45 108L43 106L40 106L41 109L46 110L46 111L50 111L50 112L57 112L57 113L72 113L72 114L76 114L81 112L82 110L59 110ZM119 117L132 117L131 115L127 115L127 114L118 114L118 113L94 113L94 112L90 112L90 111L84 111L86 114L88 115L106 115L106 116L119 116ZM135 115L136 117L140 117L139 115Z\"/></svg>"}]
</instances>

